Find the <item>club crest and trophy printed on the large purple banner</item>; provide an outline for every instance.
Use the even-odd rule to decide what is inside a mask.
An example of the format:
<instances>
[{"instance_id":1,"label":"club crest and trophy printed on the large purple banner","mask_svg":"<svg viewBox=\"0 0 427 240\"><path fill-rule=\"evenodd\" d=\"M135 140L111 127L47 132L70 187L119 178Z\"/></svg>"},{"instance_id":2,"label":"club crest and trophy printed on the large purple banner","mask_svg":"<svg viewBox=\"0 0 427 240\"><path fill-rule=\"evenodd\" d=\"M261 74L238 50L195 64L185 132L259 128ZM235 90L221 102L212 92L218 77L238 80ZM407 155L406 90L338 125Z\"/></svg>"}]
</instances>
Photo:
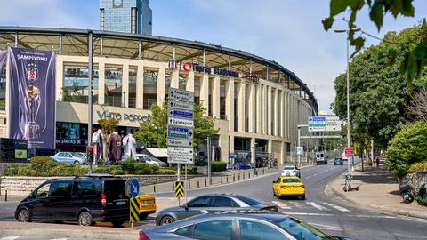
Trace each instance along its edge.
<instances>
[{"instance_id":1,"label":"club crest and trophy printed on the large purple banner","mask_svg":"<svg viewBox=\"0 0 427 240\"><path fill-rule=\"evenodd\" d=\"M26 98L29 106L29 119L25 124L24 138L28 140L28 147L31 146L31 140L40 138L40 126L36 124L36 116L40 108L40 90L36 85L38 80L37 66L35 64L28 64L28 85Z\"/></svg>"}]
</instances>

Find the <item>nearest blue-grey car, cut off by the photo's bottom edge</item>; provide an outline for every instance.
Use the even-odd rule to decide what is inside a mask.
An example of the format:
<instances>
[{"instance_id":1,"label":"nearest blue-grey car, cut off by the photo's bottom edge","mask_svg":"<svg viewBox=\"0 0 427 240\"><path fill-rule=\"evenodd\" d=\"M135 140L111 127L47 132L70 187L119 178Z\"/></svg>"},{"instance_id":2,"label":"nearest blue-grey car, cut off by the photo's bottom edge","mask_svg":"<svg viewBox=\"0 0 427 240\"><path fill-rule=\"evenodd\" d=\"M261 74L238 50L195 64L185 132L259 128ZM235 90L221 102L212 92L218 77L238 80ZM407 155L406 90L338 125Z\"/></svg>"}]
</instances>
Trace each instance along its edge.
<instances>
[{"instance_id":1,"label":"nearest blue-grey car, cut off by the photo's bottom edge","mask_svg":"<svg viewBox=\"0 0 427 240\"><path fill-rule=\"evenodd\" d=\"M140 240L166 239L349 239L329 236L307 222L278 212L222 212L198 215L151 230L141 230Z\"/></svg>"}]
</instances>

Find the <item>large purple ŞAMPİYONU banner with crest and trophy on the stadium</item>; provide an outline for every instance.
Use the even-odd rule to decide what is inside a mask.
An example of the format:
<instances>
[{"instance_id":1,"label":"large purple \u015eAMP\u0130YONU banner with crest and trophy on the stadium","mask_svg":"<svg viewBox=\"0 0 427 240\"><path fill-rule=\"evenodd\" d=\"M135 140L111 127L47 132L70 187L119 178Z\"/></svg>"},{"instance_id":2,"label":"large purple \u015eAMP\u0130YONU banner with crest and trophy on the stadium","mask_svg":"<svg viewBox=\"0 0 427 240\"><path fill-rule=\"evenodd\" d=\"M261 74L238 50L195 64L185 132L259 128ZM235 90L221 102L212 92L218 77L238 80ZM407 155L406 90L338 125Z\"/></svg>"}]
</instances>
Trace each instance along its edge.
<instances>
[{"instance_id":1,"label":"large purple \u015eAMP\u0130YONU banner with crest and trophy on the stadium","mask_svg":"<svg viewBox=\"0 0 427 240\"><path fill-rule=\"evenodd\" d=\"M55 148L54 52L9 48L9 137L28 148Z\"/></svg>"}]
</instances>

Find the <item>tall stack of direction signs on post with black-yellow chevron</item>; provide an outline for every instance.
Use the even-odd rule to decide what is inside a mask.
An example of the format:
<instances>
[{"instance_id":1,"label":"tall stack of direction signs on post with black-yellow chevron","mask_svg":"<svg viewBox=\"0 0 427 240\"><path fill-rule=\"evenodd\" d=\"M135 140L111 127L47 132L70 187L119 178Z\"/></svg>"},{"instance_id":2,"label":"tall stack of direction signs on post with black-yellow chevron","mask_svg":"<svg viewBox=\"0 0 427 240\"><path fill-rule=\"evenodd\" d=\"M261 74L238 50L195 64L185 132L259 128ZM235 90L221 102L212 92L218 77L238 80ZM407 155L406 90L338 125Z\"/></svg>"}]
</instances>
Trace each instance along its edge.
<instances>
[{"instance_id":1,"label":"tall stack of direction signs on post with black-yellow chevron","mask_svg":"<svg viewBox=\"0 0 427 240\"><path fill-rule=\"evenodd\" d=\"M167 156L168 163L178 164L175 196L180 204L180 198L186 193L181 181L181 164L185 164L187 182L187 164L194 163L194 92L170 88L167 112Z\"/></svg>"}]
</instances>

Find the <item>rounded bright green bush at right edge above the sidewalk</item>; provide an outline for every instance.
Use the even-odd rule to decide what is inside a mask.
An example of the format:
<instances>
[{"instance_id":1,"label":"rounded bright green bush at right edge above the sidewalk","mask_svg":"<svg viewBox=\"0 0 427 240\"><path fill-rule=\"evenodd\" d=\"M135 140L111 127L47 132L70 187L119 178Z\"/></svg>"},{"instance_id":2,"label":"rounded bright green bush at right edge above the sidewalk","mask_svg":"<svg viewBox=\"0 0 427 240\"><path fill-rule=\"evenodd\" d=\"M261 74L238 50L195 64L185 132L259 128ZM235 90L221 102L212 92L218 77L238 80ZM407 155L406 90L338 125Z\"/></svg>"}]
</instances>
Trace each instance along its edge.
<instances>
[{"instance_id":1,"label":"rounded bright green bush at right edge above the sidewalk","mask_svg":"<svg viewBox=\"0 0 427 240\"><path fill-rule=\"evenodd\" d=\"M405 124L387 148L389 170L398 177L407 174L411 164L427 159L427 123Z\"/></svg>"}]
</instances>

